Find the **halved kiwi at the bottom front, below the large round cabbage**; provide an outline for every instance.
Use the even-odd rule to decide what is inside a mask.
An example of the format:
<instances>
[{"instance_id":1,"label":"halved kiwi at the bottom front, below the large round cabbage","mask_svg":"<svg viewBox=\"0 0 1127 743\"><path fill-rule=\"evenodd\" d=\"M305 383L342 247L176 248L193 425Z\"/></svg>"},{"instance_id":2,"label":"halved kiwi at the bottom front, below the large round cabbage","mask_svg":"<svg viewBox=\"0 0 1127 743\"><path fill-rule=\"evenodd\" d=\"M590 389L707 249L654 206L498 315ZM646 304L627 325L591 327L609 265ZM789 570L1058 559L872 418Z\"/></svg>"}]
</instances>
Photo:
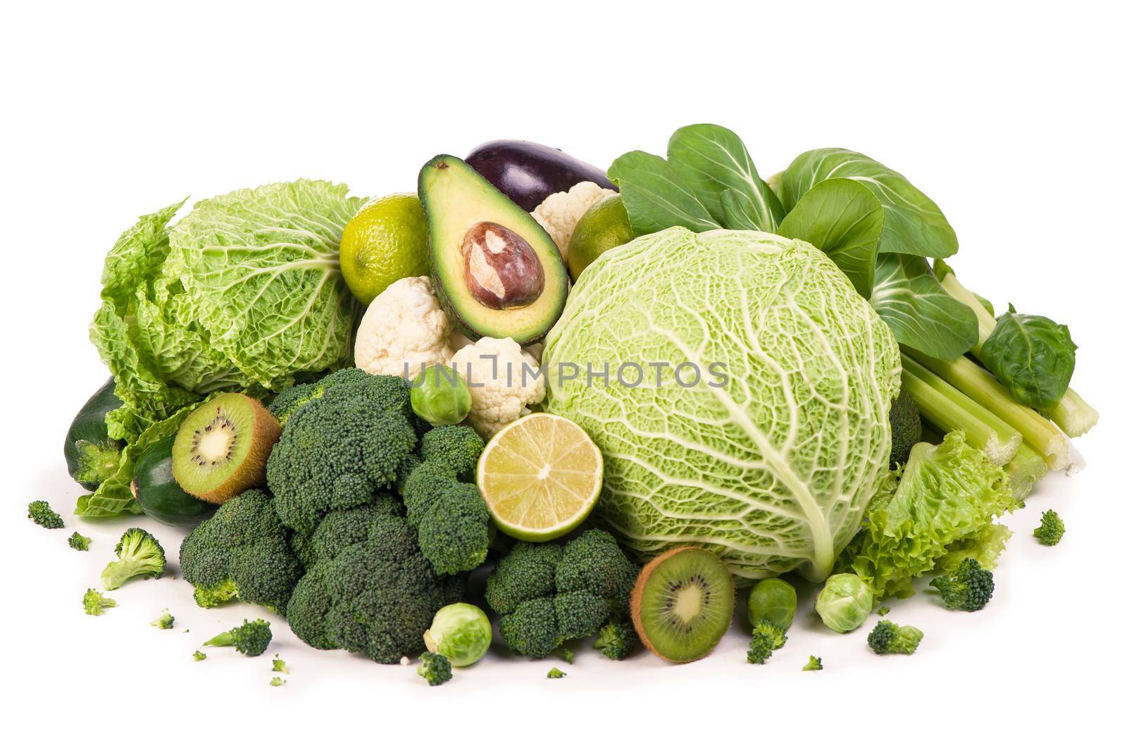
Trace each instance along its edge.
<instances>
[{"instance_id":1,"label":"halved kiwi at the bottom front, below the large round cabbage","mask_svg":"<svg viewBox=\"0 0 1127 743\"><path fill-rule=\"evenodd\" d=\"M655 557L638 575L630 614L641 642L673 663L704 657L731 625L736 586L716 554L677 547Z\"/></svg>"}]
</instances>

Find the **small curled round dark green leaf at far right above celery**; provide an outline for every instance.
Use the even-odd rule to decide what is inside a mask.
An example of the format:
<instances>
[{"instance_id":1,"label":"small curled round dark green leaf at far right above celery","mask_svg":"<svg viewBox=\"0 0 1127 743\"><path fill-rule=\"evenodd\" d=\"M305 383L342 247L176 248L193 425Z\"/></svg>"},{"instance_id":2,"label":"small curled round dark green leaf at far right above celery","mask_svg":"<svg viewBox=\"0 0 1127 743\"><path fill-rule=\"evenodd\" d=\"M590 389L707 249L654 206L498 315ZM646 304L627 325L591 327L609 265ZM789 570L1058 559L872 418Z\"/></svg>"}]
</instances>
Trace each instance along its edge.
<instances>
[{"instance_id":1,"label":"small curled round dark green leaf at far right above celery","mask_svg":"<svg viewBox=\"0 0 1127 743\"><path fill-rule=\"evenodd\" d=\"M1068 326L1039 315L1019 315L1011 304L983 344L979 360L1013 399L1047 410L1068 391L1076 344Z\"/></svg>"}]
</instances>

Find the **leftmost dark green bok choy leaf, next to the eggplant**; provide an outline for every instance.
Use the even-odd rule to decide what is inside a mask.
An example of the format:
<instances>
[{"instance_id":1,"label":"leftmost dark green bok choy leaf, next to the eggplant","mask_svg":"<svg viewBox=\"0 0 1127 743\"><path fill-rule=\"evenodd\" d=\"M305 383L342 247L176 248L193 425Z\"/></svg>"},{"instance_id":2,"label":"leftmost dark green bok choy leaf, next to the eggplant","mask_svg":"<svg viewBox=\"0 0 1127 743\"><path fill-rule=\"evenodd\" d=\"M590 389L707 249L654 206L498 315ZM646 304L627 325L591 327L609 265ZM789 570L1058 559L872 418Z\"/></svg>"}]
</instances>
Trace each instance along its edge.
<instances>
[{"instance_id":1,"label":"leftmost dark green bok choy leaf, next to the eggplant","mask_svg":"<svg viewBox=\"0 0 1127 743\"><path fill-rule=\"evenodd\" d=\"M669 227L693 232L720 228L681 176L656 154L627 152L611 163L606 175L619 186L636 236Z\"/></svg>"}]
</instances>

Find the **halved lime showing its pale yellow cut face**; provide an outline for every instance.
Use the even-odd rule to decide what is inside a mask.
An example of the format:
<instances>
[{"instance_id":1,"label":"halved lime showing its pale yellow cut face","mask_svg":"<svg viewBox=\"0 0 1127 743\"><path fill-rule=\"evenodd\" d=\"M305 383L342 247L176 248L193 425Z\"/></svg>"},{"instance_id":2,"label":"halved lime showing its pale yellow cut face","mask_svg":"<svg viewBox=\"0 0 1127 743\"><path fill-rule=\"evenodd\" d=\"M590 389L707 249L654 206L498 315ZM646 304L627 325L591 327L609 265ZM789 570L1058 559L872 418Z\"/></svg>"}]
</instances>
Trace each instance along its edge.
<instances>
[{"instance_id":1,"label":"halved lime showing its pale yellow cut face","mask_svg":"<svg viewBox=\"0 0 1127 743\"><path fill-rule=\"evenodd\" d=\"M478 487L498 529L523 541L548 541L595 507L603 454L575 423L534 413L489 440L478 460Z\"/></svg>"}]
</instances>

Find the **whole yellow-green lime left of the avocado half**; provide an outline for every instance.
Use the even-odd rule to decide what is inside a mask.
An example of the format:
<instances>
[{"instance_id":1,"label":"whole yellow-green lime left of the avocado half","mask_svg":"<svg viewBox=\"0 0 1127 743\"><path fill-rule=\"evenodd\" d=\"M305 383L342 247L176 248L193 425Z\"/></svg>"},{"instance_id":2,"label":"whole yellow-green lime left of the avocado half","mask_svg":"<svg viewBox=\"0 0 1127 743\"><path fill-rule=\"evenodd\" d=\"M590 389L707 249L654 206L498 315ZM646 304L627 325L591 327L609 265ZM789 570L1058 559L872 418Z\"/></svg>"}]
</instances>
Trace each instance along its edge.
<instances>
[{"instance_id":1,"label":"whole yellow-green lime left of the avocado half","mask_svg":"<svg viewBox=\"0 0 1127 743\"><path fill-rule=\"evenodd\" d=\"M424 276L427 266L426 218L415 194L393 194L364 205L340 238L340 272L364 304L407 276Z\"/></svg>"}]
</instances>

